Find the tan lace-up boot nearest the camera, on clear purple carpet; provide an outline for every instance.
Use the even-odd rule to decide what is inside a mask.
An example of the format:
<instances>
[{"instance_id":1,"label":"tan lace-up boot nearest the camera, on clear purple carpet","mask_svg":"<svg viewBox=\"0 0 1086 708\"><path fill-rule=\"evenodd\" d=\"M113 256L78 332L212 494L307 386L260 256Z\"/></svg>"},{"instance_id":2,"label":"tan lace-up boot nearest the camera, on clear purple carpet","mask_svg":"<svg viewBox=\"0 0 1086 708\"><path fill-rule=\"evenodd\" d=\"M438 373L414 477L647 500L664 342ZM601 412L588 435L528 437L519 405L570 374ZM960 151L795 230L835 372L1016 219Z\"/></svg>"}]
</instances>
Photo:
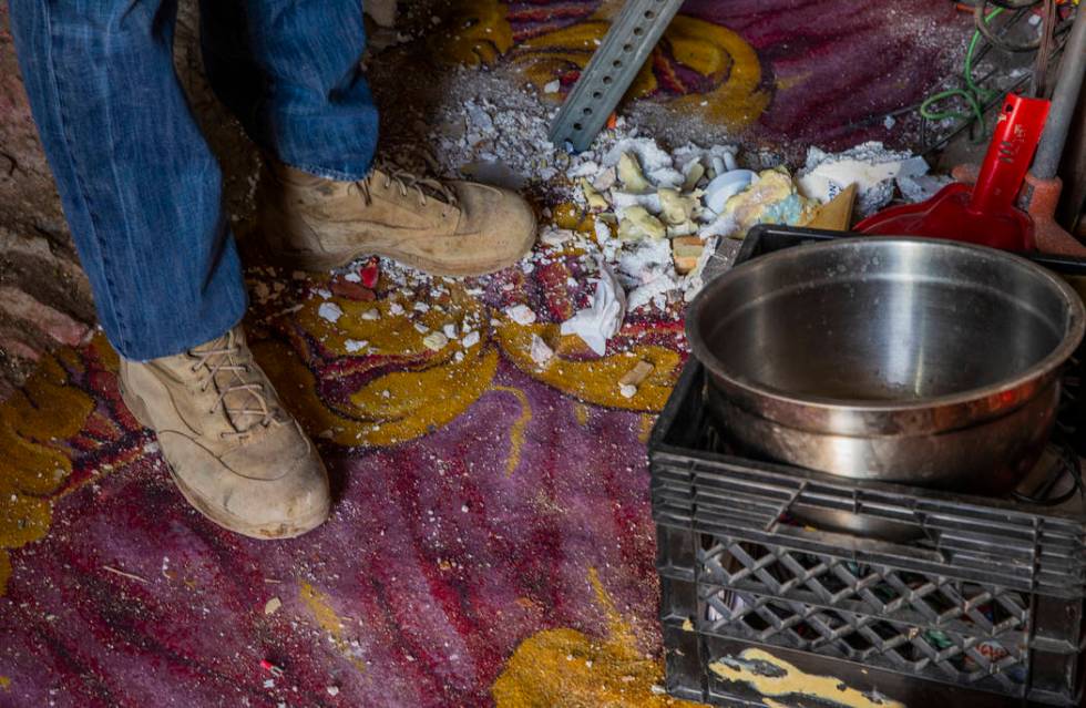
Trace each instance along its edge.
<instances>
[{"instance_id":1,"label":"tan lace-up boot nearest the camera, on clear purple carpet","mask_svg":"<svg viewBox=\"0 0 1086 708\"><path fill-rule=\"evenodd\" d=\"M253 360L240 326L151 361L121 360L121 396L158 435L188 503L230 531L287 538L328 517L328 475Z\"/></svg>"}]
</instances>

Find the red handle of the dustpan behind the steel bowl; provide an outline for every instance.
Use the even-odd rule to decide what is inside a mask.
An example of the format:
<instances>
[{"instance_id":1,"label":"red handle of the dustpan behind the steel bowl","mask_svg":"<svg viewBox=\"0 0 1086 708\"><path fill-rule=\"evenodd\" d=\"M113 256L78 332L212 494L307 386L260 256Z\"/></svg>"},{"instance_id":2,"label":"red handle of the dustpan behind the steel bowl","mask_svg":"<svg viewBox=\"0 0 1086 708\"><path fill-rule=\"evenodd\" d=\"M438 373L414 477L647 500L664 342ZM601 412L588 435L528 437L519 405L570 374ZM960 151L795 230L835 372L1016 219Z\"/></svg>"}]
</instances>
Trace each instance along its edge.
<instances>
[{"instance_id":1,"label":"red handle of the dustpan behind the steel bowl","mask_svg":"<svg viewBox=\"0 0 1086 708\"><path fill-rule=\"evenodd\" d=\"M1007 94L973 187L970 212L1002 214L1012 208L1041 142L1048 105L1044 99Z\"/></svg>"}]
</instances>

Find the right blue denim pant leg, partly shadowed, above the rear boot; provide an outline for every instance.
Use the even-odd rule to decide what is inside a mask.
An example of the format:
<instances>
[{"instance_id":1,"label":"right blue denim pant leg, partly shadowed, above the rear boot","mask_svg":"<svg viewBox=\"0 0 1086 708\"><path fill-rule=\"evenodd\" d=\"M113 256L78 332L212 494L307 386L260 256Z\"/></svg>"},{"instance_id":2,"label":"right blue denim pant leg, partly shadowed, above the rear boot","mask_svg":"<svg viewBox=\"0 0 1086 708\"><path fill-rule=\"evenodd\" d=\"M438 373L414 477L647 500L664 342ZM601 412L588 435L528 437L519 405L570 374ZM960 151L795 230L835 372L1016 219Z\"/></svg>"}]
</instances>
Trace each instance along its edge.
<instances>
[{"instance_id":1,"label":"right blue denim pant leg, partly shadowed, above the rear boot","mask_svg":"<svg viewBox=\"0 0 1086 708\"><path fill-rule=\"evenodd\" d=\"M366 176L378 115L359 65L361 0L203 0L201 37L215 93L266 154L324 177Z\"/></svg>"}]
</instances>

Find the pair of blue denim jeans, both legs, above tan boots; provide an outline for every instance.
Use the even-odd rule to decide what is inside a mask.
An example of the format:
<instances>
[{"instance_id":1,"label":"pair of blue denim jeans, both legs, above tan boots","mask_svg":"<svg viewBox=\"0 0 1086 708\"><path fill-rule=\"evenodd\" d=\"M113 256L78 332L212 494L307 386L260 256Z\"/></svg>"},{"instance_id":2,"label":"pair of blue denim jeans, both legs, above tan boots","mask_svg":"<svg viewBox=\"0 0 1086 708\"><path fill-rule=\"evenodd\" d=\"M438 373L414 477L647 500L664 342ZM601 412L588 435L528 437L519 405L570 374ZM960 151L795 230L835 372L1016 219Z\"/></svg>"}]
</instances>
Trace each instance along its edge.
<instances>
[{"instance_id":1,"label":"pair of blue denim jeans, both legs, above tan boots","mask_svg":"<svg viewBox=\"0 0 1086 708\"><path fill-rule=\"evenodd\" d=\"M126 358L180 353L246 307L223 178L172 59L176 0L10 0L30 105L99 318ZM203 0L212 88L270 157L361 178L377 109L360 0Z\"/></svg>"}]
</instances>

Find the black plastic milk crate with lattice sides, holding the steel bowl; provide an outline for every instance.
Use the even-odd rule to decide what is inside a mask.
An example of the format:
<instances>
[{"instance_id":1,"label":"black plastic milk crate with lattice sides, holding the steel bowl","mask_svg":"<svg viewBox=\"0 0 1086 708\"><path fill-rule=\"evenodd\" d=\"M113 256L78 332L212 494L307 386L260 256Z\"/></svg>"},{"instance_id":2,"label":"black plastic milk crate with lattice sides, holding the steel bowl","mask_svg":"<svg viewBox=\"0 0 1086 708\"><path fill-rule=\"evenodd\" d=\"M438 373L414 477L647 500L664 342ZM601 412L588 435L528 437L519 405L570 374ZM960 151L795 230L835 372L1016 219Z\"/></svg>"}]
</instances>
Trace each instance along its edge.
<instances>
[{"instance_id":1,"label":"black plastic milk crate with lattice sides, holding the steel bowl","mask_svg":"<svg viewBox=\"0 0 1086 708\"><path fill-rule=\"evenodd\" d=\"M739 258L834 236L762 227ZM1083 261L1038 260L1086 274ZM1067 384L1077 388L1077 371ZM826 706L846 702L832 694L847 690L874 705L1079 705L1080 504L1052 509L737 456L708 420L706 386L691 358L649 442L669 694L718 706ZM1080 415L1064 407L1059 424L1083 430ZM881 527L803 521L842 513ZM797 684L786 674L806 674L810 688L788 692ZM827 685L833 690L818 698Z\"/></svg>"}]
</instances>

